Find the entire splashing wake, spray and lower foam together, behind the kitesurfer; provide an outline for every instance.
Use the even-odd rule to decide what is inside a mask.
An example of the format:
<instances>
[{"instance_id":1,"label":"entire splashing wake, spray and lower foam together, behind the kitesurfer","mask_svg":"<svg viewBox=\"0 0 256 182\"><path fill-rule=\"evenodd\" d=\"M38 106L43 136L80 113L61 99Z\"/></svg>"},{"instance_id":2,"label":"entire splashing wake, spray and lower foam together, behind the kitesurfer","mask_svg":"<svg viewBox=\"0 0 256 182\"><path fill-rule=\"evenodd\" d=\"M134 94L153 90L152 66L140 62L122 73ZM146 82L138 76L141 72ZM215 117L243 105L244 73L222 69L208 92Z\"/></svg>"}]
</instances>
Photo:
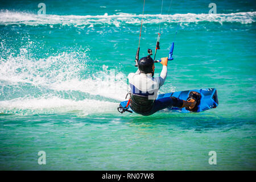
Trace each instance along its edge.
<instances>
[{"instance_id":1,"label":"entire splashing wake, spray and lower foam together, behind the kitesurfer","mask_svg":"<svg viewBox=\"0 0 256 182\"><path fill-rule=\"evenodd\" d=\"M0 57L0 113L113 113L126 96L125 74L89 65L89 49L43 59L31 51L27 46Z\"/></svg>"}]
</instances>

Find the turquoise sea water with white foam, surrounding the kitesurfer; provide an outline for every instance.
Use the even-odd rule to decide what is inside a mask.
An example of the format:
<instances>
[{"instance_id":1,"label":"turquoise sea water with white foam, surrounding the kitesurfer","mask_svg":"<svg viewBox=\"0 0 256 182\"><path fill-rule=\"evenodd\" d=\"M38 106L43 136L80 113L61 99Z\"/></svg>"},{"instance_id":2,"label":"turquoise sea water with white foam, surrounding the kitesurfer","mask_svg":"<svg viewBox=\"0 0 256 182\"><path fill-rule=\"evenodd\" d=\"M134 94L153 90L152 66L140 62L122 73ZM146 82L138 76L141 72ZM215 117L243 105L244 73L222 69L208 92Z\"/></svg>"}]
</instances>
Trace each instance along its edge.
<instances>
[{"instance_id":1,"label":"turquoise sea water with white foam, surrounding the kitesurfer","mask_svg":"<svg viewBox=\"0 0 256 182\"><path fill-rule=\"evenodd\" d=\"M143 1L44 1L46 15L38 3L0 1L0 169L256 169L254 1L214 1L211 15L211 1L163 1L160 15L146 0L144 16ZM216 88L216 109L118 113L142 17L140 56L161 23L157 57L181 18L159 92Z\"/></svg>"}]
</instances>

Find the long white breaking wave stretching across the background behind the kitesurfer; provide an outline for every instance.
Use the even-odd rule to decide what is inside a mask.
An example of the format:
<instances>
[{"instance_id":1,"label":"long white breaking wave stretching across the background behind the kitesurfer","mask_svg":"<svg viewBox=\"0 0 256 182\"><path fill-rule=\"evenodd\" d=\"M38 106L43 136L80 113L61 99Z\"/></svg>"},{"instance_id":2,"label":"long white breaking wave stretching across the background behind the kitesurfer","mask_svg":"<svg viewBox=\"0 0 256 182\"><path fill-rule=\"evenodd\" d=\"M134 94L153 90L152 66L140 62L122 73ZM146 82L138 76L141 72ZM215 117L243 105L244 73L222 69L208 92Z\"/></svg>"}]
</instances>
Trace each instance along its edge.
<instances>
[{"instance_id":1,"label":"long white breaking wave stretching across the background behind the kitesurfer","mask_svg":"<svg viewBox=\"0 0 256 182\"><path fill-rule=\"evenodd\" d=\"M127 14L117 13L114 15L37 15L31 13L22 13L15 11L2 10L0 12L0 24L25 24L29 26L39 25L55 25L61 24L63 26L75 26L92 28L97 25L114 25L119 27L123 24L140 24L143 18L144 24L157 24L157 23L177 23L181 18L181 23L198 23L198 22L238 22L242 24L253 23L256 20L256 11L241 12L230 14L174 14L174 15L161 15L161 14Z\"/></svg>"}]
</instances>

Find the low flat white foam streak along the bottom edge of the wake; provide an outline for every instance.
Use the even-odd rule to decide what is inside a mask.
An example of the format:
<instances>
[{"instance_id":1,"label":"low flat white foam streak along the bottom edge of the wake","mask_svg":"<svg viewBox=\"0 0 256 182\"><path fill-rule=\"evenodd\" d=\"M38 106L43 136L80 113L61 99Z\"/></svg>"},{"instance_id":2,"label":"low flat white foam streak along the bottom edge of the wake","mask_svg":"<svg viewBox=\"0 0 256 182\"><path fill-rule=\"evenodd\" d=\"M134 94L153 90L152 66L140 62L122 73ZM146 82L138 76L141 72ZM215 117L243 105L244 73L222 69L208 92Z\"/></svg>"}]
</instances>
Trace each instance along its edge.
<instances>
[{"instance_id":1,"label":"low flat white foam streak along the bottom edge of the wake","mask_svg":"<svg viewBox=\"0 0 256 182\"><path fill-rule=\"evenodd\" d=\"M0 101L0 113L27 114L53 114L75 113L87 115L94 113L113 113L117 104L99 100L85 99L74 101L58 97L44 96L40 98L15 98L8 101Z\"/></svg>"}]
</instances>

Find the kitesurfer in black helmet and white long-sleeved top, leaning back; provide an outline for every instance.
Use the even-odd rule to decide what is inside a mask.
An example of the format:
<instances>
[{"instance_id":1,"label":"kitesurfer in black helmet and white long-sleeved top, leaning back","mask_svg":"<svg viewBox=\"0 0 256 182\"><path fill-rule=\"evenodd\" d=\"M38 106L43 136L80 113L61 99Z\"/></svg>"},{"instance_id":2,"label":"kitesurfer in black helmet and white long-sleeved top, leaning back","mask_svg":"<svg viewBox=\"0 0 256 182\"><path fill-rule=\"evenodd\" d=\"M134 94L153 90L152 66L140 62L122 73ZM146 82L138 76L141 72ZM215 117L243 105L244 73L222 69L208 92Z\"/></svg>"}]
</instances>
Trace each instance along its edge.
<instances>
[{"instance_id":1,"label":"kitesurfer in black helmet and white long-sleeved top, leaning back","mask_svg":"<svg viewBox=\"0 0 256 182\"><path fill-rule=\"evenodd\" d=\"M197 92L190 92L187 101L176 97L156 100L158 90L167 77L168 57L163 57L161 60L163 69L159 77L154 77L155 64L150 55L142 57L138 61L138 71L128 75L131 88L129 104L131 109L142 115L151 115L167 107L186 107L187 110L196 111L201 98Z\"/></svg>"}]
</instances>

